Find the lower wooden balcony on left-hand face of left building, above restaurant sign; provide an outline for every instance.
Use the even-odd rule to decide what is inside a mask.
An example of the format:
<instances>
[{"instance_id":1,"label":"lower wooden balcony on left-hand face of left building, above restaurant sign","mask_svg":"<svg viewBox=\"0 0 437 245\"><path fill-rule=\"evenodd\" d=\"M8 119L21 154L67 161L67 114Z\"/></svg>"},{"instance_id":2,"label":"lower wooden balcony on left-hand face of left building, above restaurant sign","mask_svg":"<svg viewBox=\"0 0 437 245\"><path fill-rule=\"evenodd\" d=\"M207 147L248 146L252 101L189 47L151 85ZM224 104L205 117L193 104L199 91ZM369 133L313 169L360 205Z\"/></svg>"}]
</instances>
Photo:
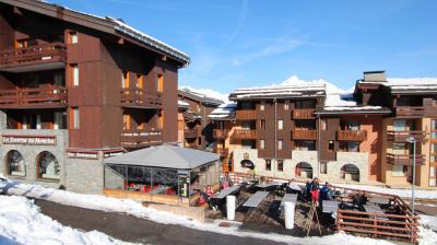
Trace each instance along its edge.
<instances>
[{"instance_id":1,"label":"lower wooden balcony on left-hand face of left building, above restaurant sign","mask_svg":"<svg viewBox=\"0 0 437 245\"><path fill-rule=\"evenodd\" d=\"M59 108L68 104L66 88L15 89L0 91L0 108Z\"/></svg>"}]
</instances>

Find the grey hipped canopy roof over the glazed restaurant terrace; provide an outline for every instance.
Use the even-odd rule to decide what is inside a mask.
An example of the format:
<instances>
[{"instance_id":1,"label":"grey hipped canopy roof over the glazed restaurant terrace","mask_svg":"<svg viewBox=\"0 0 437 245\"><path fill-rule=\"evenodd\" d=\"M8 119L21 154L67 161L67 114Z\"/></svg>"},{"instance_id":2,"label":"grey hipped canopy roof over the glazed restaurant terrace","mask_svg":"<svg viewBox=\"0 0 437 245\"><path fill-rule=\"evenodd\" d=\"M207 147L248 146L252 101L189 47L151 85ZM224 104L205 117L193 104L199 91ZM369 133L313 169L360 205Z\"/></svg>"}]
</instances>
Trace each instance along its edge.
<instances>
[{"instance_id":1,"label":"grey hipped canopy roof over the glazed restaurant terrace","mask_svg":"<svg viewBox=\"0 0 437 245\"><path fill-rule=\"evenodd\" d=\"M105 164L192 170L218 159L215 153L163 144L106 159Z\"/></svg>"}]
</instances>

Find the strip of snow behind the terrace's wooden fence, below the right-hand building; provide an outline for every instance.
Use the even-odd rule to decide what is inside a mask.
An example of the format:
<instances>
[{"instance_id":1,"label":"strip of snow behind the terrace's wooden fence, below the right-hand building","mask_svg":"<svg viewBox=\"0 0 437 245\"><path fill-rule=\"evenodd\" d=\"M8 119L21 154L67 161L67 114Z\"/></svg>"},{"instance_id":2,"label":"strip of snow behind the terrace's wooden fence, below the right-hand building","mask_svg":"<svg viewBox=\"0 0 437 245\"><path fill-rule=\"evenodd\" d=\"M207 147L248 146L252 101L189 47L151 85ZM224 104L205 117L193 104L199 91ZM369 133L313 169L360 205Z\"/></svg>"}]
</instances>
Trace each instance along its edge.
<instances>
[{"instance_id":1,"label":"strip of snow behind the terrace's wooden fence, below the right-hand building","mask_svg":"<svg viewBox=\"0 0 437 245\"><path fill-rule=\"evenodd\" d=\"M411 197L411 189L395 189L395 188L385 188L379 186L367 186L367 185L351 185L351 184L332 184L339 187L352 188L352 189L361 189L367 191L375 191L380 194L391 194L397 195L403 198ZM425 190L425 189L416 189L414 191L416 198L424 199L437 199L437 190Z\"/></svg>"}]
</instances>

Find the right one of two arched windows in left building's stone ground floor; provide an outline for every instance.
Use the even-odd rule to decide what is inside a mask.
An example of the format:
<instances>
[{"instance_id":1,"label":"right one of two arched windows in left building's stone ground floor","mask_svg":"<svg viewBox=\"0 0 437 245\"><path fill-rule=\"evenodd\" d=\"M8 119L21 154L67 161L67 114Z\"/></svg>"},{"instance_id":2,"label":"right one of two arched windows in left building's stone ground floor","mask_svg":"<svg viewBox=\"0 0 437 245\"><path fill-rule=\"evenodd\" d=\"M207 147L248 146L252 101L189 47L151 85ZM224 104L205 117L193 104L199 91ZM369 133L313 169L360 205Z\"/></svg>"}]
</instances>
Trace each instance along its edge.
<instances>
[{"instance_id":1,"label":"right one of two arched windows in left building's stone ground floor","mask_svg":"<svg viewBox=\"0 0 437 245\"><path fill-rule=\"evenodd\" d=\"M60 179L60 167L58 160L48 151L43 151L36 159L38 165L38 177Z\"/></svg>"}]
</instances>

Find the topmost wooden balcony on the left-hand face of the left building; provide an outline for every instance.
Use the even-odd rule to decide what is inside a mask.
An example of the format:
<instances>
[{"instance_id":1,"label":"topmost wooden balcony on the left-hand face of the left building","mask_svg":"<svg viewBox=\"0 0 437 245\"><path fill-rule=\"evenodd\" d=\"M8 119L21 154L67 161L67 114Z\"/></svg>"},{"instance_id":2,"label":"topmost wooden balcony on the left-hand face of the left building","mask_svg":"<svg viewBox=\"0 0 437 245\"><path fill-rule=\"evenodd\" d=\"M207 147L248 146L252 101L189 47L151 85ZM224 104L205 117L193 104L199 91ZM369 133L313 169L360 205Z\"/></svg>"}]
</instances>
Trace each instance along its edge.
<instances>
[{"instance_id":1,"label":"topmost wooden balcony on the left-hand face of the left building","mask_svg":"<svg viewBox=\"0 0 437 245\"><path fill-rule=\"evenodd\" d=\"M66 62L66 46L62 43L12 48L0 52L0 69Z\"/></svg>"}]
</instances>

